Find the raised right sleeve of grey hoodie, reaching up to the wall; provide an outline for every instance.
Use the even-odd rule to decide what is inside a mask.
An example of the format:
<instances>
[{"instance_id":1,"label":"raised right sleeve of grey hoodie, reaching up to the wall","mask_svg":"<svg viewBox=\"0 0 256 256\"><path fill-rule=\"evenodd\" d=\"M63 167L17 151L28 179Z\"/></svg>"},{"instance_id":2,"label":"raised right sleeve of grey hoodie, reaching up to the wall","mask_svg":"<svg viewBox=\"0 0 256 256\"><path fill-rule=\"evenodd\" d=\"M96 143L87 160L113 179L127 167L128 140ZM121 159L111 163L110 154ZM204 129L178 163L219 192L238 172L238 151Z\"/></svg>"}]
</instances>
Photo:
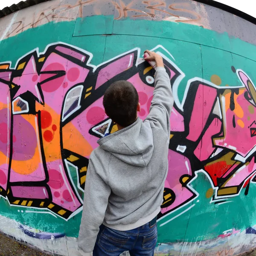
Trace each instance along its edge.
<instances>
[{"instance_id":1,"label":"raised right sleeve of grey hoodie, reaching up to the wall","mask_svg":"<svg viewBox=\"0 0 256 256\"><path fill-rule=\"evenodd\" d=\"M174 99L170 78L164 67L157 67L153 99L149 114L145 120L153 122L155 128L161 128L169 134L173 103Z\"/></svg>"}]
</instances>

